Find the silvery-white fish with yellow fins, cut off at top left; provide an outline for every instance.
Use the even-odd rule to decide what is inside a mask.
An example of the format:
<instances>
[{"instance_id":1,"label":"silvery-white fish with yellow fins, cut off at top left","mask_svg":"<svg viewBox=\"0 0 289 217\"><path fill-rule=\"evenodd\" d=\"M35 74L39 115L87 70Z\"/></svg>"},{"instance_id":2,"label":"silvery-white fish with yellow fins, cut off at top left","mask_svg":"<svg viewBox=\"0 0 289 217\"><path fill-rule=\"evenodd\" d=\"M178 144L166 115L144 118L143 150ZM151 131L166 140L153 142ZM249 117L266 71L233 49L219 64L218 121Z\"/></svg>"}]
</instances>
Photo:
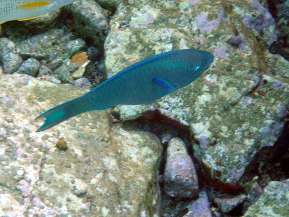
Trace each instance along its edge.
<instances>
[{"instance_id":1,"label":"silvery-white fish with yellow fins, cut off at top left","mask_svg":"<svg viewBox=\"0 0 289 217\"><path fill-rule=\"evenodd\" d=\"M11 20L29 20L76 0L0 0L0 24Z\"/></svg>"}]
</instances>

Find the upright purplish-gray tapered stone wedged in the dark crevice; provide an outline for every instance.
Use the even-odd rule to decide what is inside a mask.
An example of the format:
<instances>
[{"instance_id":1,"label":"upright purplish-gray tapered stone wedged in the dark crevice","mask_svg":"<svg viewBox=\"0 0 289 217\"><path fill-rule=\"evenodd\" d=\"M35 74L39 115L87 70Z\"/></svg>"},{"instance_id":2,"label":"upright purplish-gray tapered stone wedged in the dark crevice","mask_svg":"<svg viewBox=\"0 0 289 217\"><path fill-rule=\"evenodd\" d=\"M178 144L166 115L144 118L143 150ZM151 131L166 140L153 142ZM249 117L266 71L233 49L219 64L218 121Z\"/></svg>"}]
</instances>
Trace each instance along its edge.
<instances>
[{"instance_id":1,"label":"upright purplish-gray tapered stone wedged in the dark crevice","mask_svg":"<svg viewBox=\"0 0 289 217\"><path fill-rule=\"evenodd\" d=\"M194 163L184 141L176 137L168 142L164 190L171 197L193 197L199 192Z\"/></svg>"}]
</instances>

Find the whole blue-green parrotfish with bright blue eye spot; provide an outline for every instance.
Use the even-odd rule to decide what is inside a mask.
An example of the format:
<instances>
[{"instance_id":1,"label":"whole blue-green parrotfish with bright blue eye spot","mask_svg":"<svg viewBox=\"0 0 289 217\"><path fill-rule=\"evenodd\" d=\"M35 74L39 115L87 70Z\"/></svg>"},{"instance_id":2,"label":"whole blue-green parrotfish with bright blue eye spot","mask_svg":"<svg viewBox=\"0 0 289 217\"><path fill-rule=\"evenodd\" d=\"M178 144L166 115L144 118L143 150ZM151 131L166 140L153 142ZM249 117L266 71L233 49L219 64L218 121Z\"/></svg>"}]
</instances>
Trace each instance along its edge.
<instances>
[{"instance_id":1,"label":"whole blue-green parrotfish with bright blue eye spot","mask_svg":"<svg viewBox=\"0 0 289 217\"><path fill-rule=\"evenodd\" d=\"M158 100L192 83L213 61L214 56L210 52L196 49L174 50L142 60L83 96L39 115L36 119L46 119L36 132L87 111L103 110L119 104L146 104Z\"/></svg>"}]
</instances>

